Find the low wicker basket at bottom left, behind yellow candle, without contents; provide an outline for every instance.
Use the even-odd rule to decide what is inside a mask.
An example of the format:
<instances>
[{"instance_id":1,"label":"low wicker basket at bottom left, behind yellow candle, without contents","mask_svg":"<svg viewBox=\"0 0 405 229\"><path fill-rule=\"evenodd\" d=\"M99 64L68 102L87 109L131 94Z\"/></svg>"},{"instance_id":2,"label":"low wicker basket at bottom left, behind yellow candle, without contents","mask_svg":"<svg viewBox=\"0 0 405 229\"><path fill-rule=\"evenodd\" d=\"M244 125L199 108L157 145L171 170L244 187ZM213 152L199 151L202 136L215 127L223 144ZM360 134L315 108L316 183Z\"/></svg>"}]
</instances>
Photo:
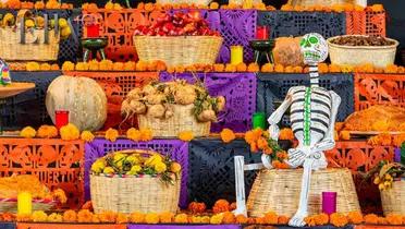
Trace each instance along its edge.
<instances>
[{"instance_id":1,"label":"low wicker basket at bottom left, behind yellow candle, without contents","mask_svg":"<svg viewBox=\"0 0 405 229\"><path fill-rule=\"evenodd\" d=\"M60 203L59 201L33 200L33 212L35 210L47 212L59 203ZM0 212L16 214L17 213L17 200L16 198L0 198Z\"/></svg>"}]
</instances>

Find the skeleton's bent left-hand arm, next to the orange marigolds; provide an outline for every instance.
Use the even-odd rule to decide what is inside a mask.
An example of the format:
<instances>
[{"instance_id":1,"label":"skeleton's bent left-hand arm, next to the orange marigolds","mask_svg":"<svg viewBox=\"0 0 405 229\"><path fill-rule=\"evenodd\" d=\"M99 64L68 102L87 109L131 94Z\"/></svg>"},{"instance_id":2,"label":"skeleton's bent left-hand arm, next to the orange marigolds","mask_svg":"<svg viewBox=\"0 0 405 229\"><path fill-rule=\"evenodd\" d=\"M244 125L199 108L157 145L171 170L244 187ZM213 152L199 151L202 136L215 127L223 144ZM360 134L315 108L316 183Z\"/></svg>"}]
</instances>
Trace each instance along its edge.
<instances>
[{"instance_id":1,"label":"skeleton's bent left-hand arm, next to the orange marigolds","mask_svg":"<svg viewBox=\"0 0 405 229\"><path fill-rule=\"evenodd\" d=\"M269 126L270 137L273 138L274 141L278 141L279 135L280 135L280 130L277 124L280 122L281 118L283 118L283 114L285 113L285 111L289 109L289 107L293 103L294 91L295 91L294 87L291 87L289 89L289 93L285 96L283 103L273 113L271 113L271 116L267 120L270 124Z\"/></svg>"}]
</instances>

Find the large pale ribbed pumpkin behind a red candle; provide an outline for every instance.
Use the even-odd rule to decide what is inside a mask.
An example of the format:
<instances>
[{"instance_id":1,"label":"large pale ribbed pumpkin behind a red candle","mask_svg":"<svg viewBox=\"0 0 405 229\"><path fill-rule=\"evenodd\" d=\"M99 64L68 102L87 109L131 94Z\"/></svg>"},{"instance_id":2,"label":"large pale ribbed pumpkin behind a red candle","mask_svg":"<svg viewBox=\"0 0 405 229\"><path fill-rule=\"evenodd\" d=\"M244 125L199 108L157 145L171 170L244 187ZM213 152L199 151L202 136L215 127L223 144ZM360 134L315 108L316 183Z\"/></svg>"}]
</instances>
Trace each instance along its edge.
<instances>
[{"instance_id":1,"label":"large pale ribbed pumpkin behind a red candle","mask_svg":"<svg viewBox=\"0 0 405 229\"><path fill-rule=\"evenodd\" d=\"M97 131L107 119L107 96L89 77L54 79L47 91L46 107L54 124L54 111L69 110L69 122L79 131Z\"/></svg>"}]
</instances>

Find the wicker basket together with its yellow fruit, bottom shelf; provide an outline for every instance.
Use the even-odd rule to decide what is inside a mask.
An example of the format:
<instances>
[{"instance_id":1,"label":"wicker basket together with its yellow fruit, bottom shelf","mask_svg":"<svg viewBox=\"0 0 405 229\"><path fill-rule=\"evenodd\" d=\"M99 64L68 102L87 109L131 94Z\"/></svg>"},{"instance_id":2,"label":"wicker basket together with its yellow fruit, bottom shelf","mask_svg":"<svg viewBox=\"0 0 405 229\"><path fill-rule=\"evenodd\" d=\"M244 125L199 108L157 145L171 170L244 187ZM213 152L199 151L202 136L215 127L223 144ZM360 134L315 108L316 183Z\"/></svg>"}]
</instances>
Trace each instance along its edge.
<instances>
[{"instance_id":1,"label":"wicker basket together with its yellow fruit, bottom shelf","mask_svg":"<svg viewBox=\"0 0 405 229\"><path fill-rule=\"evenodd\" d=\"M180 198L180 164L145 149L126 149L98 158L91 166L90 193L96 214L170 212Z\"/></svg>"}]
</instances>

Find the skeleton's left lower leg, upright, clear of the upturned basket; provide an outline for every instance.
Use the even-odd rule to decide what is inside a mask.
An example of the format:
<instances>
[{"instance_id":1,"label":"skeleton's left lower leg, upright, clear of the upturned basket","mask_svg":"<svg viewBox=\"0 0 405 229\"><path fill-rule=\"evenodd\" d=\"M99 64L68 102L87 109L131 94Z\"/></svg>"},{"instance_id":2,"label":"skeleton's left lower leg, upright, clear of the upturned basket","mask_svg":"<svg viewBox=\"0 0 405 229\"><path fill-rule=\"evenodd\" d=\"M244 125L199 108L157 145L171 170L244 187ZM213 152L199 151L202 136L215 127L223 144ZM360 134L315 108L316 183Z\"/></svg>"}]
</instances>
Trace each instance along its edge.
<instances>
[{"instance_id":1,"label":"skeleton's left lower leg, upright, clear of the upturned basket","mask_svg":"<svg viewBox=\"0 0 405 229\"><path fill-rule=\"evenodd\" d=\"M247 216L246 213L246 200L245 200L245 176L244 176L244 157L235 156L235 188L236 188L236 209L233 210L235 216L243 214Z\"/></svg>"}]
</instances>

